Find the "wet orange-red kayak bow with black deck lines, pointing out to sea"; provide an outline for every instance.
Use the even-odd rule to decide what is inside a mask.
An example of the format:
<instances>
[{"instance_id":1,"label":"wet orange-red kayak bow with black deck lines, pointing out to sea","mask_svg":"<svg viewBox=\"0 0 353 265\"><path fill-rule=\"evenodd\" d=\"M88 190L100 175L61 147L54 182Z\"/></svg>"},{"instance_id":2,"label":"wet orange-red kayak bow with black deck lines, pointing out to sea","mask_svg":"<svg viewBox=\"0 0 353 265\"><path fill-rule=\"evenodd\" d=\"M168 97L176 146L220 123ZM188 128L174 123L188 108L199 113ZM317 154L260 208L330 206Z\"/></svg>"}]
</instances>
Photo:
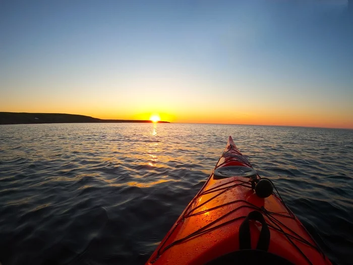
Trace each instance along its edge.
<instances>
[{"instance_id":1,"label":"wet orange-red kayak bow with black deck lines, pointing out to sea","mask_svg":"<svg viewBox=\"0 0 353 265\"><path fill-rule=\"evenodd\" d=\"M276 192L275 192L276 191ZM205 185L146 264L331 264L229 136Z\"/></svg>"}]
</instances>

